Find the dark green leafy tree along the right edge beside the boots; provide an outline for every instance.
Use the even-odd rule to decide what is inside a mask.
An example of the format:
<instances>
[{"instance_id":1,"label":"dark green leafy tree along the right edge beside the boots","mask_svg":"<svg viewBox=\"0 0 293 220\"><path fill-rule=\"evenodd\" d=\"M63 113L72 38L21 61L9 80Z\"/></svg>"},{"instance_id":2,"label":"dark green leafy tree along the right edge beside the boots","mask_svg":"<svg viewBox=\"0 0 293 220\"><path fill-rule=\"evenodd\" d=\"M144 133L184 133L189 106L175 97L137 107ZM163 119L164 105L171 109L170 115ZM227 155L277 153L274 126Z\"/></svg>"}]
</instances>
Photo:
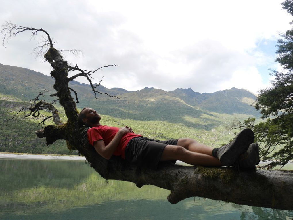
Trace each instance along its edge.
<instances>
[{"instance_id":1,"label":"dark green leafy tree along the right edge beside the boots","mask_svg":"<svg viewBox=\"0 0 293 220\"><path fill-rule=\"evenodd\" d=\"M293 16L292 0L284 1L282 6ZM255 125L255 118L248 118L233 124L234 128L250 127L254 130L262 160L271 161L263 166L268 168L284 166L293 159L293 28L280 36L276 61L284 71L272 70L271 75L275 77L272 86L258 92L255 104L262 119L266 120Z\"/></svg>"}]
</instances>

